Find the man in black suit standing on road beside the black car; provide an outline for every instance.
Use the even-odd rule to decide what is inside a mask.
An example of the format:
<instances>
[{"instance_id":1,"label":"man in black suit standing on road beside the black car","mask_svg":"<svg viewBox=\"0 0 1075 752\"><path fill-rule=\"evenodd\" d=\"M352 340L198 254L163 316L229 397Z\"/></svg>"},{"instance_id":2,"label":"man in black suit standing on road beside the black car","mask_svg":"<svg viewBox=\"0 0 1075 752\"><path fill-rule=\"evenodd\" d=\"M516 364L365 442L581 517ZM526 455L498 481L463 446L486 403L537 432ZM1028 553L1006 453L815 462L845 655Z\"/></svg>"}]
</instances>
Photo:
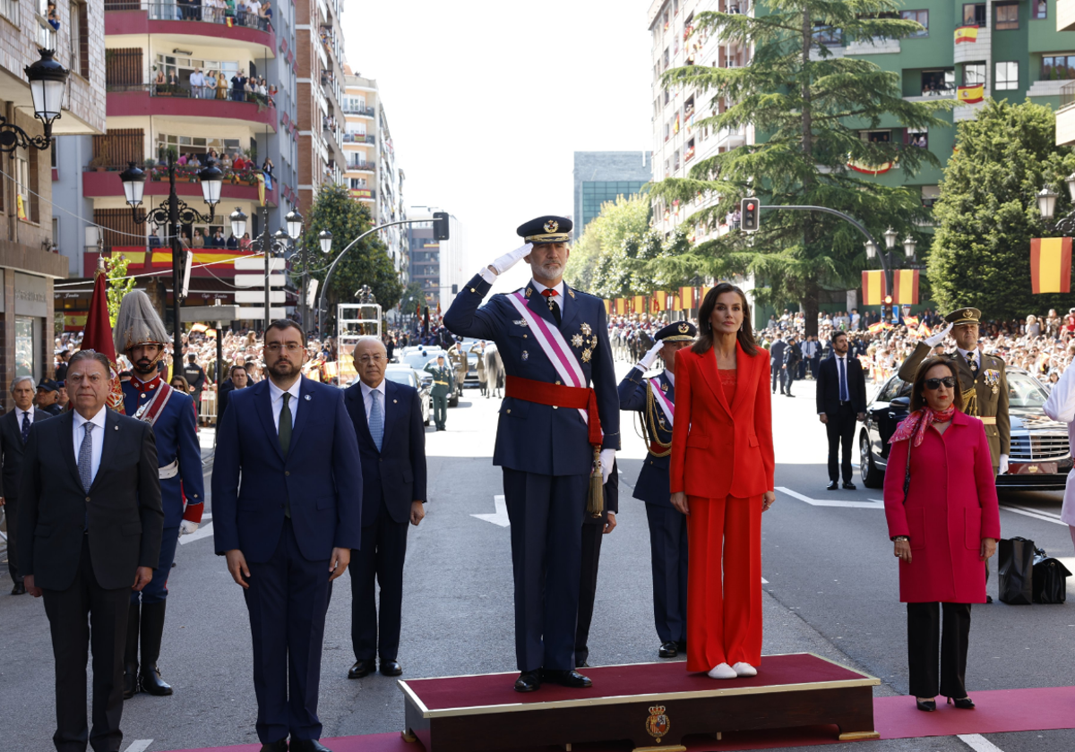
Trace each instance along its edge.
<instances>
[{"instance_id":1,"label":"man in black suit standing on road beside the black car","mask_svg":"<svg viewBox=\"0 0 1075 752\"><path fill-rule=\"evenodd\" d=\"M817 374L817 414L829 434L830 491L840 488L840 471L844 488L854 490L851 482L851 445L855 421L866 419L866 378L858 358L847 353L847 334L832 335L832 356L821 363ZM844 461L837 452L843 447Z\"/></svg>"}]
</instances>

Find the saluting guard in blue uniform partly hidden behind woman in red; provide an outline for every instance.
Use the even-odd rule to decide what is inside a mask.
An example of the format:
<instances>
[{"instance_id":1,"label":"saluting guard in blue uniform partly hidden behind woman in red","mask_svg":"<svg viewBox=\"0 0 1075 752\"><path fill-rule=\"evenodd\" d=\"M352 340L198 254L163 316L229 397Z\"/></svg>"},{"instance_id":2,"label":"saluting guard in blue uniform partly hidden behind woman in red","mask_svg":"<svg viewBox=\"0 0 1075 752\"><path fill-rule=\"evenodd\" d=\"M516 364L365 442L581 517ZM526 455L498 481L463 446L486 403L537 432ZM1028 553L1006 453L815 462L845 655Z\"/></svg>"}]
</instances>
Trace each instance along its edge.
<instances>
[{"instance_id":1,"label":"saluting guard in blue uniform partly hidden behind woman in red","mask_svg":"<svg viewBox=\"0 0 1075 752\"><path fill-rule=\"evenodd\" d=\"M669 413L675 414L675 353L693 343L697 335L698 329L687 321L664 327L657 332L657 343L619 382L619 408L642 415L649 445L633 495L646 503L654 567L654 621L661 640L661 657L675 657L687 646L687 517L672 506L669 490ZM664 361L664 371L647 379L645 374L657 356Z\"/></svg>"}]
</instances>

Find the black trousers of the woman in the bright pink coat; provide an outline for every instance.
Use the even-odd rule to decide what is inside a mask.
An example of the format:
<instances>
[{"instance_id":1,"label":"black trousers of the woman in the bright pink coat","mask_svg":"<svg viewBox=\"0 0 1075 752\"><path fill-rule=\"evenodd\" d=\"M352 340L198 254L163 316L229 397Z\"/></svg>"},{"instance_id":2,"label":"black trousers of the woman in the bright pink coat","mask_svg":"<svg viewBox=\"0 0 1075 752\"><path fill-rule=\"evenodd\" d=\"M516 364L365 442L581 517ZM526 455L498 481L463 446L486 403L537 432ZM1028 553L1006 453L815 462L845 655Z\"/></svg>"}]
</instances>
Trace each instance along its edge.
<instances>
[{"instance_id":1,"label":"black trousers of the woman in the bright pink coat","mask_svg":"<svg viewBox=\"0 0 1075 752\"><path fill-rule=\"evenodd\" d=\"M907 604L907 665L911 669L912 695L936 697L940 694L957 699L966 697L966 646L970 634L971 604L969 603Z\"/></svg>"}]
</instances>

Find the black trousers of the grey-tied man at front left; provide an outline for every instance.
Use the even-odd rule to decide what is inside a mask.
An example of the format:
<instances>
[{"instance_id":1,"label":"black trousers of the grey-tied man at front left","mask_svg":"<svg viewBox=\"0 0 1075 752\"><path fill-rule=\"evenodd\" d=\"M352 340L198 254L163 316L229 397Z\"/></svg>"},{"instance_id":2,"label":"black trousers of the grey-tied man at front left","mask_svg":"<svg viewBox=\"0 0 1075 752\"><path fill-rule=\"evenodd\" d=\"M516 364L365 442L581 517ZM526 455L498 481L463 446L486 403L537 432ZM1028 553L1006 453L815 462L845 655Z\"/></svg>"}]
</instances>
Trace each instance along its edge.
<instances>
[{"instance_id":1,"label":"black trousers of the grey-tied man at front left","mask_svg":"<svg viewBox=\"0 0 1075 752\"><path fill-rule=\"evenodd\" d=\"M131 590L106 590L98 584L89 539L84 535L74 582L67 590L44 590L43 595L56 660L53 742L57 752L85 752L87 739L95 752L118 752L124 738L119 719L124 712L124 646ZM86 727L88 648L94 654L91 731Z\"/></svg>"}]
</instances>

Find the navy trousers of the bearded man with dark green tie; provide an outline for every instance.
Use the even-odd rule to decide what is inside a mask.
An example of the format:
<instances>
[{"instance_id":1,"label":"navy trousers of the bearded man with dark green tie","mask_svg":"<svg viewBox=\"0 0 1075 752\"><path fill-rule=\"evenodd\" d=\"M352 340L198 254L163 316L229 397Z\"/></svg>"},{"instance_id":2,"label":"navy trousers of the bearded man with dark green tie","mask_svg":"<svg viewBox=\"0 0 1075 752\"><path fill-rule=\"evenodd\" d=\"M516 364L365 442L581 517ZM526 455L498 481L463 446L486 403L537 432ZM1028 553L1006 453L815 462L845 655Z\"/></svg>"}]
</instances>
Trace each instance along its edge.
<instances>
[{"instance_id":1,"label":"navy trousers of the bearded man with dark green tie","mask_svg":"<svg viewBox=\"0 0 1075 752\"><path fill-rule=\"evenodd\" d=\"M258 738L262 743L290 735L319 739L317 718L329 560L303 558L295 530L285 520L276 550L267 562L247 562L243 591L250 617Z\"/></svg>"}]
</instances>

